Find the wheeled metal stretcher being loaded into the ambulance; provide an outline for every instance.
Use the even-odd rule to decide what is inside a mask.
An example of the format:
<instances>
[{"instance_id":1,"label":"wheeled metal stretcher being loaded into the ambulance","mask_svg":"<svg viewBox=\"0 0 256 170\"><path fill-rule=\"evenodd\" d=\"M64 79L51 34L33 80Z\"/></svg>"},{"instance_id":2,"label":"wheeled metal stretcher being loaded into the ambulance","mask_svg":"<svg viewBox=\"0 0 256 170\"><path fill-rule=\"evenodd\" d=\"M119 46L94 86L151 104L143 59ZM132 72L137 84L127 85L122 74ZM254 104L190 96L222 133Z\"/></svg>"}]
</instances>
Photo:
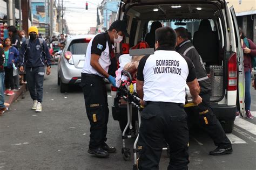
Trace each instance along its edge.
<instances>
[{"instance_id":1,"label":"wheeled metal stretcher being loaded into the ambulance","mask_svg":"<svg viewBox=\"0 0 256 170\"><path fill-rule=\"evenodd\" d=\"M129 60L130 59L128 59L128 61ZM136 93L136 79L133 79L131 74L126 70L122 70L119 81L120 82L117 90L117 96L125 100L127 104L127 124L122 133L122 140L123 140L122 155L124 160L131 159L131 151L130 151L130 148L126 147L125 140L129 138L136 138L133 143L133 155L134 155L133 169L138 169L137 168L137 152L139 152L139 148L137 148L137 143L139 139L139 127L141 124L141 113L143 110L143 106L140 105L140 98ZM194 104L192 102L192 97L189 93L188 87L186 87L186 102L184 107L193 107L193 106ZM136 108L138 111L137 128L135 131L133 130L133 125L132 125L132 115L134 114L132 113L132 110L133 110L132 108ZM163 147L163 150L166 150L167 155L170 157L170 152L169 152L170 148L167 144L166 144L166 147Z\"/></svg>"}]
</instances>

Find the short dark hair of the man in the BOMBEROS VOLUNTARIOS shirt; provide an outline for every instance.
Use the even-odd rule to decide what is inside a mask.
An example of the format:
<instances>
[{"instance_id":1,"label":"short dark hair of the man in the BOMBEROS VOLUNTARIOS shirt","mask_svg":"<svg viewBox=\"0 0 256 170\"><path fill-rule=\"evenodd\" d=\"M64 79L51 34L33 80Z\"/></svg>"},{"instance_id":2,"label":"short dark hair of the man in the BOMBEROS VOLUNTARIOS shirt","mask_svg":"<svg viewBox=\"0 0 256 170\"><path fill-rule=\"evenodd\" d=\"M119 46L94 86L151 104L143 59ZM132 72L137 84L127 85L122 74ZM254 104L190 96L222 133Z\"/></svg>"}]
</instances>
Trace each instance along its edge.
<instances>
[{"instance_id":1,"label":"short dark hair of the man in the BOMBEROS VOLUNTARIOS shirt","mask_svg":"<svg viewBox=\"0 0 256 170\"><path fill-rule=\"evenodd\" d=\"M177 42L176 32L170 26L160 27L156 30L156 41L159 42L159 46L174 48Z\"/></svg>"}]
</instances>

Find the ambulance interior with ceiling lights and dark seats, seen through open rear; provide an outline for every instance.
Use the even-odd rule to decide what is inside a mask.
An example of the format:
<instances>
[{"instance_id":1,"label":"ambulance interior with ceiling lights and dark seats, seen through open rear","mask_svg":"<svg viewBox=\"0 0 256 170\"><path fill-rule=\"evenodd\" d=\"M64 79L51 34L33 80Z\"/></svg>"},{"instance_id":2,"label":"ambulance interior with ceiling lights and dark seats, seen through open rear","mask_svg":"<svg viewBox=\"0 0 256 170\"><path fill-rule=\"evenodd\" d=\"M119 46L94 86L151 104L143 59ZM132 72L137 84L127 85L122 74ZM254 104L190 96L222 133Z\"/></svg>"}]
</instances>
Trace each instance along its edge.
<instances>
[{"instance_id":1,"label":"ambulance interior with ceiling lights and dark seats, seen through open rear","mask_svg":"<svg viewBox=\"0 0 256 170\"><path fill-rule=\"evenodd\" d=\"M125 6L125 8L124 20L127 23L130 38L126 37L124 42L129 44L130 48L145 40L151 24L155 21L163 26L171 26L173 29L185 27L211 79L213 86L211 101L218 102L224 98L223 70L227 63L225 59L227 44L225 44L226 32L223 31L225 30L224 19L219 6L209 3L137 4Z\"/></svg>"}]
</instances>

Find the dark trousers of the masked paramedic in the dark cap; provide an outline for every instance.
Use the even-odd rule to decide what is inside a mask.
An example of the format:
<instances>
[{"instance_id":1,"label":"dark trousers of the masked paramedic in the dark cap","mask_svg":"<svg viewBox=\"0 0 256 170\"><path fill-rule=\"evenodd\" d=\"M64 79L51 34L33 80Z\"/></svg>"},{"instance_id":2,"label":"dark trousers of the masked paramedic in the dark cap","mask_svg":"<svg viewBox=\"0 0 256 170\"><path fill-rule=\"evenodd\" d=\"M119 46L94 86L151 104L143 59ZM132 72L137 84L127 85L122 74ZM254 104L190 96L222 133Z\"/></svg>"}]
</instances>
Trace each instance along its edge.
<instances>
[{"instance_id":1,"label":"dark trousers of the masked paramedic in the dark cap","mask_svg":"<svg viewBox=\"0 0 256 170\"><path fill-rule=\"evenodd\" d=\"M90 121L89 148L97 148L106 141L109 108L104 78L98 75L82 73L85 108Z\"/></svg>"}]
</instances>

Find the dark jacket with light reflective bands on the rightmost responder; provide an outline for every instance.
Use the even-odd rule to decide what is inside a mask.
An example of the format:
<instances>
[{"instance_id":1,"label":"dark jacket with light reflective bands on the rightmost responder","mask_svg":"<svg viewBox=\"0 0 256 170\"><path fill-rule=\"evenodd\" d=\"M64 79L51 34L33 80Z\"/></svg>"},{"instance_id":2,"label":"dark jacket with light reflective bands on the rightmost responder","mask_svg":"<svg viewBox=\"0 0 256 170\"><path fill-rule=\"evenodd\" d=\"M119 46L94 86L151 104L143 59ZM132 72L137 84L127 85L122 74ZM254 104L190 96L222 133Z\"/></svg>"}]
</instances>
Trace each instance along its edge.
<instances>
[{"instance_id":1,"label":"dark jacket with light reflective bands on the rightmost responder","mask_svg":"<svg viewBox=\"0 0 256 170\"><path fill-rule=\"evenodd\" d=\"M201 88L200 94L210 93L212 90L211 81L207 76L203 65L203 60L201 59L201 56L197 52L196 48L194 48L192 42L190 40L185 40L176 47L176 50L178 53L190 58L193 62L194 67L196 68L197 81L199 82Z\"/></svg>"}]
</instances>

